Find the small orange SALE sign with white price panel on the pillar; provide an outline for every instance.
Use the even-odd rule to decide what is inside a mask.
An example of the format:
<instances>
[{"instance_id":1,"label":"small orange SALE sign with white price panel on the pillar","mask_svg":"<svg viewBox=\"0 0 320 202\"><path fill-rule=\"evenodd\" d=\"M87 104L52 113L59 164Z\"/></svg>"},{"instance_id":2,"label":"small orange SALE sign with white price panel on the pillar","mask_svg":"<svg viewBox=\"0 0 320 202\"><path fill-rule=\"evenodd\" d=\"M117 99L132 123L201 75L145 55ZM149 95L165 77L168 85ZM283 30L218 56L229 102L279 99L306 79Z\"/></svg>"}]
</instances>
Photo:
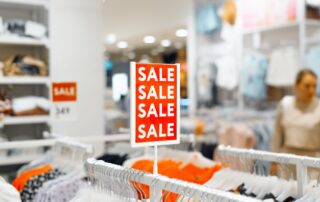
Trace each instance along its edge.
<instances>
[{"instance_id":1,"label":"small orange SALE sign with white price panel on the pillar","mask_svg":"<svg viewBox=\"0 0 320 202\"><path fill-rule=\"evenodd\" d=\"M52 83L52 118L55 121L76 120L77 83Z\"/></svg>"}]
</instances>

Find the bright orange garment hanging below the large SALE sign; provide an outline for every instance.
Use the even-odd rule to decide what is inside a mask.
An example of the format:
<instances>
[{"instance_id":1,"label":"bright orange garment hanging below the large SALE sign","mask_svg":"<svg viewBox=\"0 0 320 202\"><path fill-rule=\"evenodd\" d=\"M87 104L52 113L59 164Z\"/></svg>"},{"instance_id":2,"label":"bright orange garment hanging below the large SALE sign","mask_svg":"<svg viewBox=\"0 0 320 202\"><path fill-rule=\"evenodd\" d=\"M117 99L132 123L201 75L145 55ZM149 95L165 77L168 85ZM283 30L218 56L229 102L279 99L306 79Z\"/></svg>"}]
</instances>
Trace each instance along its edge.
<instances>
[{"instance_id":1,"label":"bright orange garment hanging below the large SALE sign","mask_svg":"<svg viewBox=\"0 0 320 202\"><path fill-rule=\"evenodd\" d=\"M187 165L181 167L183 162L177 162L173 160L160 160L158 161L158 173L169 178L179 179L187 182L192 182L196 184L204 184L209 179L212 178L215 172L222 169L220 164L216 164L213 167L200 168L193 163L188 163ZM152 173L153 171L153 161L152 160L139 160L132 165L133 169L142 170L145 172ZM145 197L142 197L139 193L139 199L149 198L149 186L138 185L133 183L135 187L140 186L145 193ZM168 194L170 192L163 191L162 194ZM166 201L176 201L179 197L176 193L170 193L166 196Z\"/></svg>"}]
</instances>

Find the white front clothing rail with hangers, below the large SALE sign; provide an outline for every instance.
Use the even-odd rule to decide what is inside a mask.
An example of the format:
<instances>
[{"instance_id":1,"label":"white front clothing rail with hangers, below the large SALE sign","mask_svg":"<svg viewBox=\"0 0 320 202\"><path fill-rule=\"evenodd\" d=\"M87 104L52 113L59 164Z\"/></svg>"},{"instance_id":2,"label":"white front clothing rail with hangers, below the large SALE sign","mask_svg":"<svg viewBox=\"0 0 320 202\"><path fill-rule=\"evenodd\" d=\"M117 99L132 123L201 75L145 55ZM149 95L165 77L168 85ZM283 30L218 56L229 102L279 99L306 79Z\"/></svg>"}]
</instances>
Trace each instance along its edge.
<instances>
[{"instance_id":1,"label":"white front clothing rail with hangers, below the large SALE sign","mask_svg":"<svg viewBox=\"0 0 320 202\"><path fill-rule=\"evenodd\" d=\"M105 163L95 159L88 159L85 164L85 170L92 182L97 182L97 185L101 185L101 189L105 190L105 187L111 190L119 192L119 186L112 188L113 182L123 186L121 190L131 189L134 190L137 187L133 187L132 182L142 183L150 186L150 201L160 202L162 201L161 191L166 190L180 194L189 199L197 199L200 201L229 201L229 202L256 202L259 200L235 195L229 192L223 192L219 190L213 190L205 186L200 186L192 183L183 182L180 180L169 179L160 175L153 175L142 171L134 170L131 168L124 168L122 166ZM130 183L131 182L131 183ZM131 186L131 187L130 187ZM114 189L114 190L113 190ZM135 191L134 191L135 192Z\"/></svg>"}]
</instances>

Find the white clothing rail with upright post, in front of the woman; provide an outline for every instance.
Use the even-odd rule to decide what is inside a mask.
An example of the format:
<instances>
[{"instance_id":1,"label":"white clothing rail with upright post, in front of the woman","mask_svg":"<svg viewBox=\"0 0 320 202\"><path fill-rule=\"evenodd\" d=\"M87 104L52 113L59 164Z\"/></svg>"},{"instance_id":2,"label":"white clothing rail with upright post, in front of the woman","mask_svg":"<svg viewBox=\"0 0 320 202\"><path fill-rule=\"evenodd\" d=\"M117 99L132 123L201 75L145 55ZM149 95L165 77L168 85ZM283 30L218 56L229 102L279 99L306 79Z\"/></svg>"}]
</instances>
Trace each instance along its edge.
<instances>
[{"instance_id":1,"label":"white clothing rail with upright post, in front of the woman","mask_svg":"<svg viewBox=\"0 0 320 202\"><path fill-rule=\"evenodd\" d=\"M273 153L257 151L253 149L238 149L220 145L218 152L221 157L229 155L252 160L271 161L280 164L291 164L296 166L298 196L302 197L308 185L308 167L320 168L320 159L294 154Z\"/></svg>"}]
</instances>

